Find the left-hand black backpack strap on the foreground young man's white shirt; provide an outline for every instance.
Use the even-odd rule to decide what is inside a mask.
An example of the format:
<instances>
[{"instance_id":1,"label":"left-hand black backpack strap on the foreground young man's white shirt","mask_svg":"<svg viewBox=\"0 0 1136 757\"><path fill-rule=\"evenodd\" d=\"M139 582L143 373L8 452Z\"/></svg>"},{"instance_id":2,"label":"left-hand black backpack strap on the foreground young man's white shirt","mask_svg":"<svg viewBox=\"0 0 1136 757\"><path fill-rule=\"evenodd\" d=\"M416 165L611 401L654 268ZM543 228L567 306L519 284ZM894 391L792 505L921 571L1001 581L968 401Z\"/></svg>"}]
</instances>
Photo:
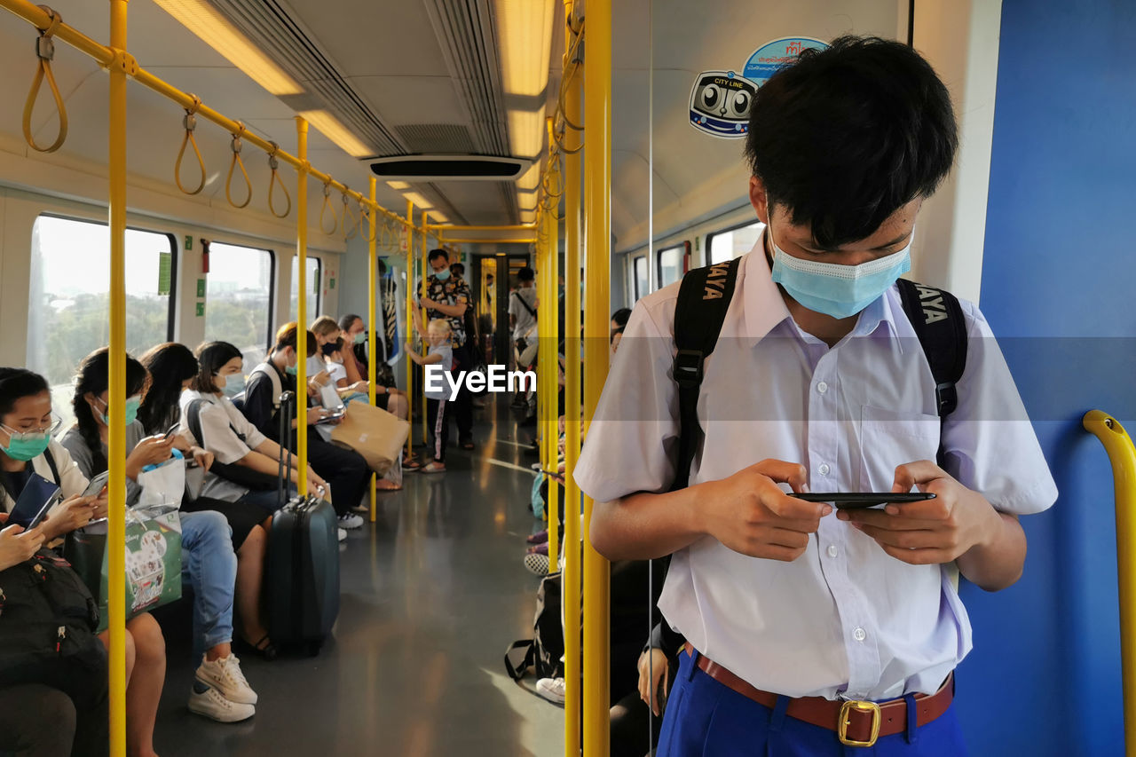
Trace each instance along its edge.
<instances>
[{"instance_id":1,"label":"left-hand black backpack strap on the foreground young man's white shirt","mask_svg":"<svg viewBox=\"0 0 1136 757\"><path fill-rule=\"evenodd\" d=\"M726 321L740 260L734 258L695 268L683 276L678 286L675 303L675 347L678 351L671 371L678 384L678 463L671 491L685 489L690 483L691 463L702 435L698 408L703 366Z\"/></svg>"}]
</instances>

